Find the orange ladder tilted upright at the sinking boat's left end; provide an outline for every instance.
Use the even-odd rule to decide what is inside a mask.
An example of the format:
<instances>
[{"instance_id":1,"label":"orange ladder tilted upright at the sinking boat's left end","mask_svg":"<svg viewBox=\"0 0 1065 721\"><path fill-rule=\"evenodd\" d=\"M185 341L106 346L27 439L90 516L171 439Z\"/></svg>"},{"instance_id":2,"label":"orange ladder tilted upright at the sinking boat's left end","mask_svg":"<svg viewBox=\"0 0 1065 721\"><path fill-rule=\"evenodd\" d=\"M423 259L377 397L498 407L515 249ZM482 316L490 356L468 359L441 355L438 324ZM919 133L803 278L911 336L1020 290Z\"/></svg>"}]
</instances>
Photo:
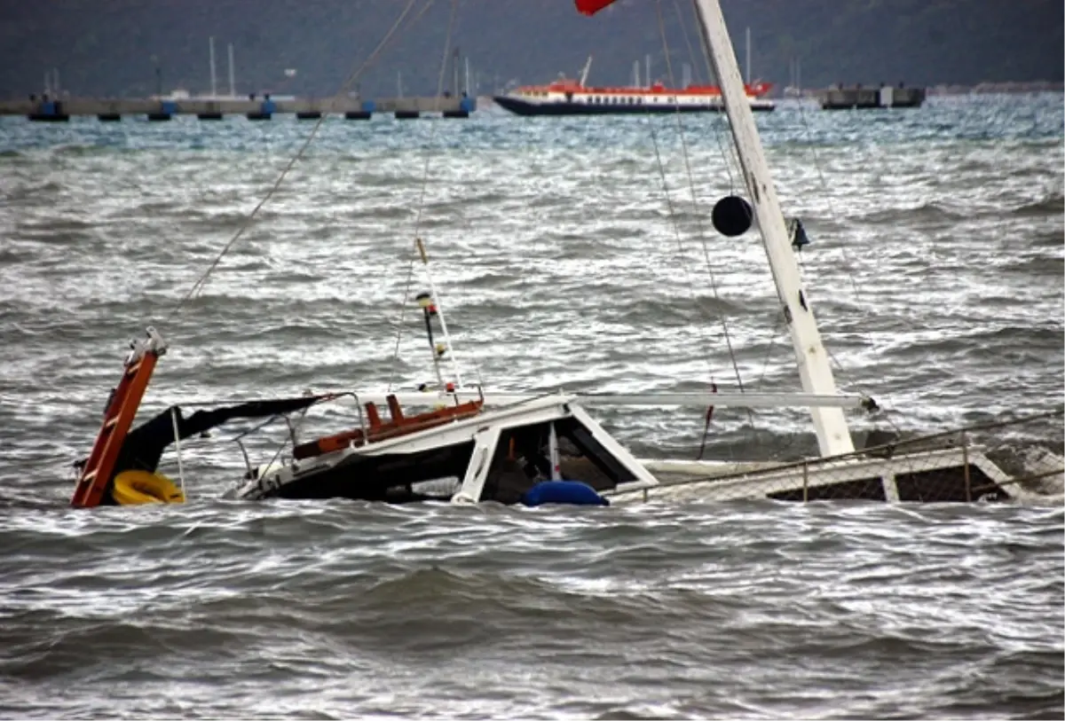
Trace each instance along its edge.
<instances>
[{"instance_id":1,"label":"orange ladder tilted upright at the sinking boat's left end","mask_svg":"<svg viewBox=\"0 0 1065 721\"><path fill-rule=\"evenodd\" d=\"M70 505L76 508L93 508L103 500L103 491L111 482L118 453L141 407L141 399L148 388L155 363L166 352L166 343L155 329L149 326L147 335L144 340L130 342L132 350L126 358L122 379L108 402L103 424L70 499Z\"/></svg>"}]
</instances>

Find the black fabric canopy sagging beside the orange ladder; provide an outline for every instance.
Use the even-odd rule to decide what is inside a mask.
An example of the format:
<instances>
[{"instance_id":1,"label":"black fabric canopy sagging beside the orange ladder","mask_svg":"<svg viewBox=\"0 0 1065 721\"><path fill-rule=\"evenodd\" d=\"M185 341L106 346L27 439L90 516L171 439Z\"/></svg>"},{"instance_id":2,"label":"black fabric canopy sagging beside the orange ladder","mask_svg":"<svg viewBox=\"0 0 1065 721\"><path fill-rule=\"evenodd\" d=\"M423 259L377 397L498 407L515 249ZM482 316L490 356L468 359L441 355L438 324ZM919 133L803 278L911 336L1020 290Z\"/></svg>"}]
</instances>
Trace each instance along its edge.
<instances>
[{"instance_id":1,"label":"black fabric canopy sagging beside the orange ladder","mask_svg":"<svg viewBox=\"0 0 1065 721\"><path fill-rule=\"evenodd\" d=\"M171 414L176 415L178 420L177 437L184 439L234 419L283 416L308 408L328 398L333 398L333 396L302 396L268 401L247 401L235 405L197 410L187 418L181 413L181 406L170 406L129 432L122 443L122 450L118 453L114 474L117 475L128 470L145 470L152 473L155 471L159 467L159 460L163 456L163 451L175 440L174 416Z\"/></svg>"}]
</instances>

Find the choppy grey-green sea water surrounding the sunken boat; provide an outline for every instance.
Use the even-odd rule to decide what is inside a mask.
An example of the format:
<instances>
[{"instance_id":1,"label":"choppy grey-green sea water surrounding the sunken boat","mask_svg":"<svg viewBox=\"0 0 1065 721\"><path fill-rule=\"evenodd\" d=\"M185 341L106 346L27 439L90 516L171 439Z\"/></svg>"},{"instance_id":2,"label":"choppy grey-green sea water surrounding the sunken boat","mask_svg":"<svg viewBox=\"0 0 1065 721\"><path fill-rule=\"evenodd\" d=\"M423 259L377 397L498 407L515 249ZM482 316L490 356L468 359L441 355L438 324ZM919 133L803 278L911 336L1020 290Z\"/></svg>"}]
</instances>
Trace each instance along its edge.
<instances>
[{"instance_id":1,"label":"choppy grey-green sea water surrounding the sunken boat","mask_svg":"<svg viewBox=\"0 0 1065 721\"><path fill-rule=\"evenodd\" d=\"M758 123L845 388L915 432L1062 405L1060 96ZM723 120L683 130L327 121L178 311L310 125L0 122L0 716L1065 714L1059 509L234 504L225 438L185 451L185 507L65 507L148 323L171 350L146 412L430 380L400 322L415 233L466 383L731 387L724 317L744 387L797 389L757 236L709 230L738 182ZM703 430L602 419L649 456ZM708 449L810 443L800 412L719 409Z\"/></svg>"}]
</instances>

